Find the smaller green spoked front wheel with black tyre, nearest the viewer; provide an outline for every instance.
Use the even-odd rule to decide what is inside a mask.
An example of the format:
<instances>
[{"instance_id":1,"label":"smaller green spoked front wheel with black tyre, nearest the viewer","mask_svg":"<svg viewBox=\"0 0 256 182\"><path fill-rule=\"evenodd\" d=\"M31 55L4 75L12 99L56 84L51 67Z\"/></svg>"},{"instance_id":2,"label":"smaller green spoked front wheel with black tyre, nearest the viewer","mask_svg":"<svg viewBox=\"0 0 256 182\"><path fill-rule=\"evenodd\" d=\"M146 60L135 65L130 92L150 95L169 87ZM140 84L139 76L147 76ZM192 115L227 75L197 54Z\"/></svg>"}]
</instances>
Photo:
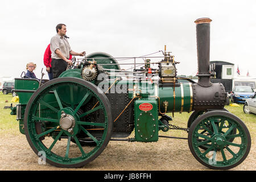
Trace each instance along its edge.
<instances>
[{"instance_id":1,"label":"smaller green spoked front wheel with black tyre, nearest the viewer","mask_svg":"<svg viewBox=\"0 0 256 182\"><path fill-rule=\"evenodd\" d=\"M229 123L225 126L225 123ZM207 126L211 126L209 130ZM236 134L233 134L233 130ZM201 133L207 130L207 135ZM230 142L230 139L233 139ZM200 146L208 144L207 150ZM212 169L230 169L246 159L251 147L249 130L236 115L227 111L209 111L192 123L188 133L188 145L193 156Z\"/></svg>"}]
</instances>

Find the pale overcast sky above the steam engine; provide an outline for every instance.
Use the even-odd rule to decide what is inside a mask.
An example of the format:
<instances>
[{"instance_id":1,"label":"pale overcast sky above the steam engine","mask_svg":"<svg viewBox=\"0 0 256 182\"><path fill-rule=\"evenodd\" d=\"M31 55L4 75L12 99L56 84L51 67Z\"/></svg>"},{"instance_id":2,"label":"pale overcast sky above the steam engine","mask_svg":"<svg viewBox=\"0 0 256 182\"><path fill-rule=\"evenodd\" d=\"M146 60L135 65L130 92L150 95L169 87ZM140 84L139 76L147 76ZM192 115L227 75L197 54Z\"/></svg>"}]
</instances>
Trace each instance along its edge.
<instances>
[{"instance_id":1,"label":"pale overcast sky above the steam engine","mask_svg":"<svg viewBox=\"0 0 256 182\"><path fill-rule=\"evenodd\" d=\"M58 23L67 25L73 51L130 57L163 50L166 45L180 61L178 75L195 75L194 21L203 17L213 20L210 61L228 61L235 64L235 72L239 65L241 75L249 71L256 76L255 10L255 0L1 1L0 77L20 77L30 61L37 64L38 78L42 68L46 73L43 54Z\"/></svg>"}]
</instances>

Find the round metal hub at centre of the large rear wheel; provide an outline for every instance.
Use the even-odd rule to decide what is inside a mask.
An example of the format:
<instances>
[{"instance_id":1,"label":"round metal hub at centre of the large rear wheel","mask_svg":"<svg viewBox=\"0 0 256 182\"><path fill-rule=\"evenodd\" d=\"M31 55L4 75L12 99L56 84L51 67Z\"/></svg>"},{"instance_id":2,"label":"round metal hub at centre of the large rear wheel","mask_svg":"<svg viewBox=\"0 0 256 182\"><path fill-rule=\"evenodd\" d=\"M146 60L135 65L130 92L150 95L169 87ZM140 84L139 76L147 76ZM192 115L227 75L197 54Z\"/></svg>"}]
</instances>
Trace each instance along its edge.
<instances>
[{"instance_id":1,"label":"round metal hub at centre of the large rear wheel","mask_svg":"<svg viewBox=\"0 0 256 182\"><path fill-rule=\"evenodd\" d=\"M75 118L70 114L64 113L64 111L61 112L60 127L72 134L73 127L75 127Z\"/></svg>"}]
</instances>

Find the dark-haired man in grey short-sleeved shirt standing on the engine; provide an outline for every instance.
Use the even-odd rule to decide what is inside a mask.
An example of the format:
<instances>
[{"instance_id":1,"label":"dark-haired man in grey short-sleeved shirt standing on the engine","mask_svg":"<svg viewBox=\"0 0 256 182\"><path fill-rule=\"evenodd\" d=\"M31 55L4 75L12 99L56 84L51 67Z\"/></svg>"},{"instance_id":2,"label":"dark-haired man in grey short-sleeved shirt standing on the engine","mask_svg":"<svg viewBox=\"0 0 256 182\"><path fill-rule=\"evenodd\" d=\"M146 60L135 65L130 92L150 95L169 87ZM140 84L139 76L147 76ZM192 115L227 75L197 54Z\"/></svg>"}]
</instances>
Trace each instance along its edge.
<instances>
[{"instance_id":1,"label":"dark-haired man in grey short-sleeved shirt standing on the engine","mask_svg":"<svg viewBox=\"0 0 256 182\"><path fill-rule=\"evenodd\" d=\"M85 51L77 53L72 51L69 46L67 38L65 38L67 28L65 24L57 24L57 34L51 39L51 52L52 52L52 73L53 78L57 78L67 69L67 65L72 65L72 61L69 59L69 54L73 56L84 56Z\"/></svg>"}]
</instances>

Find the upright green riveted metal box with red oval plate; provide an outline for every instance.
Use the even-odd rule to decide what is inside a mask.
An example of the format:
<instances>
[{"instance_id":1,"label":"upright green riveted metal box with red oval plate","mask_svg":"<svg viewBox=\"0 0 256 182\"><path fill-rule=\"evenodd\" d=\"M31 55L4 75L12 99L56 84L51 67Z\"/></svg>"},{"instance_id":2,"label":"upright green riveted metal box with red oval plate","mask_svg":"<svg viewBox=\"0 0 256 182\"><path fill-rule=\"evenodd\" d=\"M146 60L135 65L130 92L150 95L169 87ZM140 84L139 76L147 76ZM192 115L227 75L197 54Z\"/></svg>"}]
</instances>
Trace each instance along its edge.
<instances>
[{"instance_id":1,"label":"upright green riveted metal box with red oval plate","mask_svg":"<svg viewBox=\"0 0 256 182\"><path fill-rule=\"evenodd\" d=\"M151 110L141 110L140 105L151 104ZM136 100L135 104L135 140L138 142L158 141L158 102L156 100Z\"/></svg>"}]
</instances>

